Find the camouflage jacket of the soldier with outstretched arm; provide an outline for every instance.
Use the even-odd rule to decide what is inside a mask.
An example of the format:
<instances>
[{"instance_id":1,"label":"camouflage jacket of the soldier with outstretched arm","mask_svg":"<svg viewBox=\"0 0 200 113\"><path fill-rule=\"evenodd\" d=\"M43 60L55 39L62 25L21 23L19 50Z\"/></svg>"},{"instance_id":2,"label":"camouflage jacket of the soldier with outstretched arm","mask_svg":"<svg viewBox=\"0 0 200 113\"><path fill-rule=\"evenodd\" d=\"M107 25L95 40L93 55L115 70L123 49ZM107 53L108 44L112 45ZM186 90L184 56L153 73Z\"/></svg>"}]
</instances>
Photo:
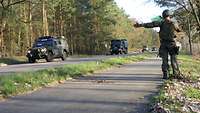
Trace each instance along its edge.
<instances>
[{"instance_id":1,"label":"camouflage jacket of the soldier with outstretched arm","mask_svg":"<svg viewBox=\"0 0 200 113\"><path fill-rule=\"evenodd\" d=\"M176 38L175 32L180 32L180 28L176 21L154 21L151 23L143 23L141 24L142 27L145 28L154 28L154 27L160 27L160 42L174 42Z\"/></svg>"}]
</instances>

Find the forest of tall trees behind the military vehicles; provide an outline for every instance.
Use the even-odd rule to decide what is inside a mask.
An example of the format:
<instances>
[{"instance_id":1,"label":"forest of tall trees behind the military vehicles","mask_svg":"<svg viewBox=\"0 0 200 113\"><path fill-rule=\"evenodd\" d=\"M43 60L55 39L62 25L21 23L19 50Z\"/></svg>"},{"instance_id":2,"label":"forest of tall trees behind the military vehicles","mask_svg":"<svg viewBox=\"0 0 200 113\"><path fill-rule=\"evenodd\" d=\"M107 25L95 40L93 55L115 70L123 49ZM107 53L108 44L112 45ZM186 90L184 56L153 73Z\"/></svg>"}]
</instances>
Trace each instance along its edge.
<instances>
[{"instance_id":1,"label":"forest of tall trees behind the military vehicles","mask_svg":"<svg viewBox=\"0 0 200 113\"><path fill-rule=\"evenodd\" d=\"M65 36L73 54L105 54L112 39L158 45L114 0L0 0L0 56L23 56L40 36Z\"/></svg>"}]
</instances>

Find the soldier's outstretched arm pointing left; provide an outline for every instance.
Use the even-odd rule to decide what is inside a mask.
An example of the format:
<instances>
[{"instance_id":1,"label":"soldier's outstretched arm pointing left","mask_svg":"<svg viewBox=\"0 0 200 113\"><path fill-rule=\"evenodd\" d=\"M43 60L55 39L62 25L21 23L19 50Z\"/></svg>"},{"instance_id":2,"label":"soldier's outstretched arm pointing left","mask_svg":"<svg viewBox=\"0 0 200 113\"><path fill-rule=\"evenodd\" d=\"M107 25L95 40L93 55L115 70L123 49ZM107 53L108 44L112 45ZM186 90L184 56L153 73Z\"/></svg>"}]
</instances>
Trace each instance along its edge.
<instances>
[{"instance_id":1,"label":"soldier's outstretched arm pointing left","mask_svg":"<svg viewBox=\"0 0 200 113\"><path fill-rule=\"evenodd\" d=\"M136 23L134 25L134 27L145 27L145 28L154 28L154 27L159 27L160 26L160 22L154 21L154 22L150 22L150 23Z\"/></svg>"}]
</instances>

